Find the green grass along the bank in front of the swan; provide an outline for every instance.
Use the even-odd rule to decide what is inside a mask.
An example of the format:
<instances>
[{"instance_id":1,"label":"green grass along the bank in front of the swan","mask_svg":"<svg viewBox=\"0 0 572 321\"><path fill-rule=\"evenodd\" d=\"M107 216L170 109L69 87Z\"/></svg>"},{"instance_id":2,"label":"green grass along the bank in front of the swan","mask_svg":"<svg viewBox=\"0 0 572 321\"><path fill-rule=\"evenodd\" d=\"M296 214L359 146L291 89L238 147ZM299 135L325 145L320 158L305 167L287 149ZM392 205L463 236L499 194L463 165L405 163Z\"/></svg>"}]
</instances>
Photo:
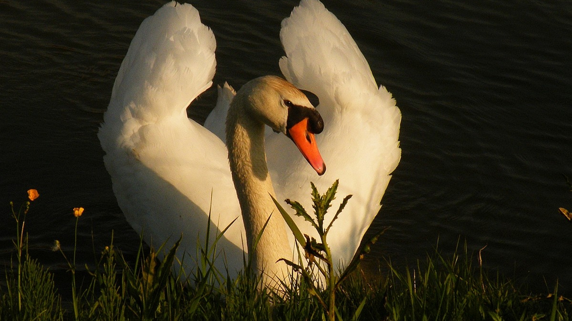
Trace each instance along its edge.
<instances>
[{"instance_id":1,"label":"green grass along the bank in front of the swan","mask_svg":"<svg viewBox=\"0 0 572 321\"><path fill-rule=\"evenodd\" d=\"M176 275L172 272L172 265L178 264L176 246L144 253L141 244L134 262L127 262L113 241L102 249L88 280L77 283L82 284L79 288L75 288L75 267L70 266L69 287L75 300L62 300L53 274L27 254L28 210L29 202L12 212L17 254L6 267L6 284L0 287L0 320L325 320L329 316L330 307L319 298L329 298L331 289L303 282L300 274L292 276L295 282L284 289L285 294L277 295L260 290L260 279L253 272L225 279L208 268L208 257L202 258L206 263L197 271L187 271L189 277ZM558 284L549 294L523 294L521 284L489 273L479 264L479 255L466 247L447 258L435 250L414 266L387 262L380 271L384 276L380 272L366 278L358 268L337 284L336 320L356 315L358 320L395 321L572 319L572 304L558 294Z\"/></svg>"}]
</instances>

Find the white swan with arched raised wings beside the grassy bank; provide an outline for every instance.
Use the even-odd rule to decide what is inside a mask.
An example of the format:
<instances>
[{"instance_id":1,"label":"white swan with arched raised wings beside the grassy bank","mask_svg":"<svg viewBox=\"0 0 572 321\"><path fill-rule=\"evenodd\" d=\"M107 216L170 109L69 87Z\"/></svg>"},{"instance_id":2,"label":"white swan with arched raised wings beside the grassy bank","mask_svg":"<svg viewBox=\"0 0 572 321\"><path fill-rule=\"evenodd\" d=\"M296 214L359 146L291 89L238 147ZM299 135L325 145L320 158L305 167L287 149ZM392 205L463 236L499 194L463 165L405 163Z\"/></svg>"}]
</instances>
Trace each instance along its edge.
<instances>
[{"instance_id":1,"label":"white swan with arched raised wings beside the grassy bank","mask_svg":"<svg viewBox=\"0 0 572 321\"><path fill-rule=\"evenodd\" d=\"M339 20L319 1L303 0L291 17L284 19L280 38L286 53L280 60L285 78L320 99L317 110L324 130L316 141L328 164L322 176L316 175L284 135L269 130L265 134L272 185L264 170L249 175L237 170L249 166L252 154L242 158L240 152L233 154L233 145L246 144L246 150L255 151L260 158L264 155L260 136L245 134L248 138L237 138L240 133L233 136L229 132L230 155L223 142L227 113L228 129L232 131L237 119L244 116L237 110L247 106L259 110L262 106L240 97L252 98L254 92L261 93L259 98L265 101L268 113L254 118L282 133L286 133L288 110L284 104L312 110L308 99L287 82L273 77L249 82L232 103L235 111L228 111L234 94L231 87L224 86L205 127L186 117L189 103L212 85L216 66L215 38L191 5L170 2L146 18L121 64L98 133L106 153L105 166L126 219L146 242L158 247L167 240L170 246L182 234L178 255L184 256L186 271L197 264L197 242L205 244L209 212L212 226L219 232L239 218L217 243L222 254L215 261L219 271L225 271L227 264L229 274L235 276L243 268L243 249L247 248L244 240L252 239L259 228L256 224L270 214L265 192L272 193L273 187L278 200L296 199L310 210L309 182L325 191L338 178L339 197L332 207L337 208L347 194L353 194L353 198L330 230L329 244L336 262L349 262L379 211L390 174L399 163L399 109L391 94L383 86L376 86L366 59ZM269 86L269 82L280 85ZM257 161L254 171L263 167L264 163ZM321 171L319 164L313 167ZM266 213L256 214L256 222L248 215L240 218L232 175L243 176L243 180L236 179L241 202L250 202L249 207L243 206L243 214L252 214L259 206ZM265 184L263 192L258 187L242 188L253 178L260 186ZM275 213L256 253L257 267L271 276L284 272L275 261L291 258L293 245L293 236ZM302 232L317 236L302 218L293 218ZM275 241L276 246L272 243ZM276 248L279 250L272 253Z\"/></svg>"}]
</instances>

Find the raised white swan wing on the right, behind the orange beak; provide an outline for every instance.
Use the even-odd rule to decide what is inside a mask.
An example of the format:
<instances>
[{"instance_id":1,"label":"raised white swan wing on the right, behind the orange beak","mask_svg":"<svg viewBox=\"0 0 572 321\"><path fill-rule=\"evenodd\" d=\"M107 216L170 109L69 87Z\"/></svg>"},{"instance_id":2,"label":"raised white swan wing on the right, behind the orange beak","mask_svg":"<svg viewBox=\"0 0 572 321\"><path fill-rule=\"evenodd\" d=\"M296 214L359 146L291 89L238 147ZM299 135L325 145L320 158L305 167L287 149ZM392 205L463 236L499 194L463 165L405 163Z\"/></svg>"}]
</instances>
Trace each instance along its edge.
<instances>
[{"instance_id":1,"label":"raised white swan wing on the right, behind the orange beak","mask_svg":"<svg viewBox=\"0 0 572 321\"><path fill-rule=\"evenodd\" d=\"M324 131L316 135L327 170L316 176L293 144L269 133L268 164L279 198L296 199L311 211L310 183L320 192L339 179L331 220L345 195L352 194L329 232L336 262L347 263L380 210L380 200L399 163L401 114L347 29L317 0L302 0L280 31L285 57L280 69L288 81L320 99ZM303 218L302 232L317 236ZM328 216L326 216L328 221ZM329 222L327 222L329 223Z\"/></svg>"}]
</instances>

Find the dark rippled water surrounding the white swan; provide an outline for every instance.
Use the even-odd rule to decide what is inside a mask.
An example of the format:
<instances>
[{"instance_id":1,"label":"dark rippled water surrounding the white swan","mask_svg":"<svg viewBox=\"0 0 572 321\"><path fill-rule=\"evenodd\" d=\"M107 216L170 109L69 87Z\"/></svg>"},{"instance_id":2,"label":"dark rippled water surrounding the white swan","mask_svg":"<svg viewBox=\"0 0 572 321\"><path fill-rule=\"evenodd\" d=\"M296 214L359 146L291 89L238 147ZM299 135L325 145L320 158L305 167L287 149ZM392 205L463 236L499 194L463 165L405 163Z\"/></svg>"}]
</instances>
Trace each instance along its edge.
<instances>
[{"instance_id":1,"label":"dark rippled water surrounding the white swan","mask_svg":"<svg viewBox=\"0 0 572 321\"><path fill-rule=\"evenodd\" d=\"M80 265L109 244L133 254L96 137L141 21L163 1L0 1L0 263L13 255L8 202L40 197L31 254L65 275L54 239ZM478 5L472 4L478 3ZM194 2L217 37L217 75L240 87L279 74L280 21L296 1ZM572 5L561 1L326 1L403 114L402 161L372 230L370 263L414 263L458 240L484 263L572 292ZM214 103L209 90L198 105ZM204 113L197 113L204 117ZM202 116L201 116L202 115ZM546 286L546 284L548 284Z\"/></svg>"}]
</instances>

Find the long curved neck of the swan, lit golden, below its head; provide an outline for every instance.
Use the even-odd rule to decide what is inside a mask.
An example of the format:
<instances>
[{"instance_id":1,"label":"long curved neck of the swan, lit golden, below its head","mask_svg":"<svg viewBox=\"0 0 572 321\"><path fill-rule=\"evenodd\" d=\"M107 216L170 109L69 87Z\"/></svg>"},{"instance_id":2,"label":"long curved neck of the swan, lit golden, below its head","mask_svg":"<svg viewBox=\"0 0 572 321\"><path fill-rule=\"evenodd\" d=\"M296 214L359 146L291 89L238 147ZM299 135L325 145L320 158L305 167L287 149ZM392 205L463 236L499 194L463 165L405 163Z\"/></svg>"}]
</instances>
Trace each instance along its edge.
<instances>
[{"instance_id":1,"label":"long curved neck of the swan, lit golden, below its head","mask_svg":"<svg viewBox=\"0 0 572 321\"><path fill-rule=\"evenodd\" d=\"M248 250L253 254L257 272L263 271L264 283L269 284L275 275L285 279L289 273L287 265L275 262L281 258L291 259L292 251L283 218L270 197L276 198L264 151L264 123L253 117L248 107L239 91L227 115L228 157ZM253 249L253 243L267 220L268 224Z\"/></svg>"}]
</instances>

